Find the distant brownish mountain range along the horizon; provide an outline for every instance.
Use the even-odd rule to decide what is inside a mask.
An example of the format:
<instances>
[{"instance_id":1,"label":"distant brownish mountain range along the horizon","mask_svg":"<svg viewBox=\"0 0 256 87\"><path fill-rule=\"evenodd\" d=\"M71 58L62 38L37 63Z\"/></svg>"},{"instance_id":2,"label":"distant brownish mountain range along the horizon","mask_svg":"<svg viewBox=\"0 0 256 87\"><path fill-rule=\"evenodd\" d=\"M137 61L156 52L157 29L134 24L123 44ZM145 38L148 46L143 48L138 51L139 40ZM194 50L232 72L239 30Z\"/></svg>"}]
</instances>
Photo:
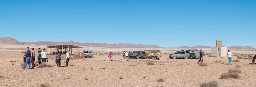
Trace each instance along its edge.
<instances>
[{"instance_id":1,"label":"distant brownish mountain range along the horizon","mask_svg":"<svg viewBox=\"0 0 256 87\"><path fill-rule=\"evenodd\" d=\"M119 44L107 44L107 43L80 43L80 42L52 42L52 41L38 41L38 42L19 42L11 37L0 37L0 43L16 44L16 45L76 45L76 46L88 46L88 47L105 47L105 48L163 48L157 45L141 45L132 43L119 43ZM211 46L181 46L176 48L211 48ZM254 49L251 46L230 46L230 49Z\"/></svg>"}]
</instances>

